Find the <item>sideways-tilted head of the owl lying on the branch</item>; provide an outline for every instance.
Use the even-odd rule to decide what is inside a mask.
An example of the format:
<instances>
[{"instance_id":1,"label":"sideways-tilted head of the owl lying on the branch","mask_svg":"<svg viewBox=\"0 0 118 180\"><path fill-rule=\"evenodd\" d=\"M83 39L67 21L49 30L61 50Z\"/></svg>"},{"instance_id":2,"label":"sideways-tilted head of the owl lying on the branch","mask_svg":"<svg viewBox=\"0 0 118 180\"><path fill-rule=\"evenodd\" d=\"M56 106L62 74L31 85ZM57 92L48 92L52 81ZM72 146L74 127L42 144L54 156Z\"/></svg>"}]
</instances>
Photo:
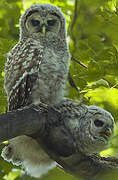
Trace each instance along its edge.
<instances>
[{"instance_id":1,"label":"sideways-tilted head of the owl lying on the branch","mask_svg":"<svg viewBox=\"0 0 118 180\"><path fill-rule=\"evenodd\" d=\"M89 106L84 119L81 119L78 148L87 155L99 153L109 147L113 134L114 119L104 109Z\"/></svg>"}]
</instances>

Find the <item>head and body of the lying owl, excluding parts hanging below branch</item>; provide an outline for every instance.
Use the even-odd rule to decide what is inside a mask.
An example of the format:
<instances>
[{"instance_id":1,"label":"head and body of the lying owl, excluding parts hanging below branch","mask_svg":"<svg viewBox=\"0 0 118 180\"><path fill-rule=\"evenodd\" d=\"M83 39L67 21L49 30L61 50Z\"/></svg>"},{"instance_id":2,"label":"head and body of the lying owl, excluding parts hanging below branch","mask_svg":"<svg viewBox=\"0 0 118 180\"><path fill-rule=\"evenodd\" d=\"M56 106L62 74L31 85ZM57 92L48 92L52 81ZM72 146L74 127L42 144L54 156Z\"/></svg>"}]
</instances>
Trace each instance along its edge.
<instances>
[{"instance_id":1,"label":"head and body of the lying owl, excluding parts hanging below branch","mask_svg":"<svg viewBox=\"0 0 118 180\"><path fill-rule=\"evenodd\" d=\"M70 99L63 99L53 108L61 113L61 120L46 123L49 133L44 142L49 149L55 149L61 156L69 156L70 152L92 155L109 147L114 118L108 111Z\"/></svg>"}]
</instances>

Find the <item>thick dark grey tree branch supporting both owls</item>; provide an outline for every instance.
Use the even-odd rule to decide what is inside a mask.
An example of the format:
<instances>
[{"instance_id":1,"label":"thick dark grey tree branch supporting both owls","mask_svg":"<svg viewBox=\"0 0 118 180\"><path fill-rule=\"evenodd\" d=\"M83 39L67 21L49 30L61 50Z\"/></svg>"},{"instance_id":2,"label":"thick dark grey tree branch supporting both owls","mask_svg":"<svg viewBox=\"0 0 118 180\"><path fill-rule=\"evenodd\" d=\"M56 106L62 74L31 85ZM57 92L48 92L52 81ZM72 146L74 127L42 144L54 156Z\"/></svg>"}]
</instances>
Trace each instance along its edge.
<instances>
[{"instance_id":1,"label":"thick dark grey tree branch supporting both owls","mask_svg":"<svg viewBox=\"0 0 118 180\"><path fill-rule=\"evenodd\" d=\"M70 104L73 105L73 102ZM67 121L65 112L70 109L66 106L63 107L65 111L62 111L62 106L58 108L57 105L48 107L40 104L1 114L0 141L23 134L30 135L37 141L40 139L43 149L53 160L59 163L66 172L83 180L103 180L108 175L111 175L110 177L113 177L115 173L118 175L117 158L100 157L96 154L86 156L77 151L75 142L78 140L76 139L78 136L70 133L68 122L67 124L63 123ZM71 109L76 108L77 111L78 107L80 116L83 108L85 113L88 111L87 106L79 104L75 104ZM49 134L51 134L51 138L48 136ZM48 140L46 140L47 136Z\"/></svg>"}]
</instances>

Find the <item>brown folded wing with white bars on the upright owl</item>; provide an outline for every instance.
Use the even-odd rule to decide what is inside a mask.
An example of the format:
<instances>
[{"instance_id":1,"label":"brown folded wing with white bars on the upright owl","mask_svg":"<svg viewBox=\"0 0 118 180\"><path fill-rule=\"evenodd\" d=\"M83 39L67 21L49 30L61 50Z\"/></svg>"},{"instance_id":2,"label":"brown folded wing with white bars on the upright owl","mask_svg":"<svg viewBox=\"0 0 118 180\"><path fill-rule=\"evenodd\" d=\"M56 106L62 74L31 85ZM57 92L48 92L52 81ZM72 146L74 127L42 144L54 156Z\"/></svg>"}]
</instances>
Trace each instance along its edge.
<instances>
[{"instance_id":1,"label":"brown folded wing with white bars on the upright owl","mask_svg":"<svg viewBox=\"0 0 118 180\"><path fill-rule=\"evenodd\" d=\"M38 78L41 50L28 42L20 42L8 54L4 86L9 110L31 104L31 90Z\"/></svg>"}]
</instances>

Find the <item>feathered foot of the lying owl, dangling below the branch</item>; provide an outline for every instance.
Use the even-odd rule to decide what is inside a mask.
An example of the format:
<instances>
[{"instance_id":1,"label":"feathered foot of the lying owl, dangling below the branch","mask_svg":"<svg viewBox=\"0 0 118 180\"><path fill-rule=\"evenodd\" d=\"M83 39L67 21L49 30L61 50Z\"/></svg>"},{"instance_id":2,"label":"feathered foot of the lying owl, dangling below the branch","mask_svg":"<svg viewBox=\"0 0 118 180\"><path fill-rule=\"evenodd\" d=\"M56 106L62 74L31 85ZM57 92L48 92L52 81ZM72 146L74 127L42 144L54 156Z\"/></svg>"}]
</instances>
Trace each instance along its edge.
<instances>
[{"instance_id":1,"label":"feathered foot of the lying owl, dangling below the branch","mask_svg":"<svg viewBox=\"0 0 118 180\"><path fill-rule=\"evenodd\" d=\"M14 147L11 144L3 148L1 156L6 161L12 162L14 165L19 166L21 164L21 160L18 157L17 153L15 153Z\"/></svg>"}]
</instances>

